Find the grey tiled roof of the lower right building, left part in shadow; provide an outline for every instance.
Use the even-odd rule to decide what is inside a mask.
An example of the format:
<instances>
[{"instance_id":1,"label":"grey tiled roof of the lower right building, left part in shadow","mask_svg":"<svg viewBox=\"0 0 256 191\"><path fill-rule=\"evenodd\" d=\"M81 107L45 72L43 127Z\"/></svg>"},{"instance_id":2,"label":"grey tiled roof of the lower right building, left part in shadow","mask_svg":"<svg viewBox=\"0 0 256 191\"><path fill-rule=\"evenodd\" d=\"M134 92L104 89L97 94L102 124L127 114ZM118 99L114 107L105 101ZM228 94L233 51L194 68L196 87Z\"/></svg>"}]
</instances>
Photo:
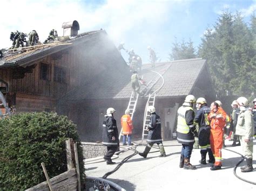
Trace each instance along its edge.
<instances>
[{"instance_id":1,"label":"grey tiled roof of the lower right building, left part in shadow","mask_svg":"<svg viewBox=\"0 0 256 191\"><path fill-rule=\"evenodd\" d=\"M163 73L164 85L157 93L157 97L184 96L191 93L205 63L206 60L203 59L159 62L156 63L154 68L151 68L150 65L143 65L143 70L139 75L143 76L143 80L146 83L149 83L154 76L158 75L152 70ZM117 71L114 68L110 70L110 73L102 74L105 77L97 77L97 80L72 91L72 96L68 97L71 100L130 98L132 92L131 73ZM158 80L151 92L157 90L162 82L161 79ZM141 87L142 89L143 87Z\"/></svg>"}]
</instances>

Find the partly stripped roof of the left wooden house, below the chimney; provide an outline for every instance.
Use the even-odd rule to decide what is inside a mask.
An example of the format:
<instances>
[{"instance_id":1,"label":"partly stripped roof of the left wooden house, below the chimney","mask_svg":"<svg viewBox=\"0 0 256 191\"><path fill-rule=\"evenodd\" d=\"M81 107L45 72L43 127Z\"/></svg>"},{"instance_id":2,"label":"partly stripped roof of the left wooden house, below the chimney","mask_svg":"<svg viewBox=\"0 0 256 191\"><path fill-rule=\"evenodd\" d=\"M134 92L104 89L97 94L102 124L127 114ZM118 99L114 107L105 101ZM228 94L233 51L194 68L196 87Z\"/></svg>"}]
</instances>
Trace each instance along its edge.
<instances>
[{"instance_id":1,"label":"partly stripped roof of the left wooden house, below the chimney","mask_svg":"<svg viewBox=\"0 0 256 191\"><path fill-rule=\"evenodd\" d=\"M90 31L78 34L64 42L54 42L45 45L38 45L32 47L18 48L16 52L6 51L4 57L0 59L0 67L22 66L26 67L33 63L33 61L44 58L47 55L62 51L63 49L75 46L80 43L85 43L87 40L99 38L105 35L105 30ZM21 52L26 50L26 52Z\"/></svg>"}]
</instances>

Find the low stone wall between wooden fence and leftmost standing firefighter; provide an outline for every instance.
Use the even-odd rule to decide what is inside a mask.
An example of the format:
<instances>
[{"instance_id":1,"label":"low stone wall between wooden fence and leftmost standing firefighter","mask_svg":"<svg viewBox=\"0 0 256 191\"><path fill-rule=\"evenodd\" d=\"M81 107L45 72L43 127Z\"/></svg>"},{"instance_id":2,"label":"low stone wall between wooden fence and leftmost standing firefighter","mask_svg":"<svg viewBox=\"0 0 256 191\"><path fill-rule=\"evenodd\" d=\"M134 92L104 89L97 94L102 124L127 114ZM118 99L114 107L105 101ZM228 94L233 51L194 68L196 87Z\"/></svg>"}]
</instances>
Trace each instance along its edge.
<instances>
[{"instance_id":1,"label":"low stone wall between wooden fence and leftmost standing firefighter","mask_svg":"<svg viewBox=\"0 0 256 191\"><path fill-rule=\"evenodd\" d=\"M84 159L103 157L107 147L101 143L82 142Z\"/></svg>"}]
</instances>

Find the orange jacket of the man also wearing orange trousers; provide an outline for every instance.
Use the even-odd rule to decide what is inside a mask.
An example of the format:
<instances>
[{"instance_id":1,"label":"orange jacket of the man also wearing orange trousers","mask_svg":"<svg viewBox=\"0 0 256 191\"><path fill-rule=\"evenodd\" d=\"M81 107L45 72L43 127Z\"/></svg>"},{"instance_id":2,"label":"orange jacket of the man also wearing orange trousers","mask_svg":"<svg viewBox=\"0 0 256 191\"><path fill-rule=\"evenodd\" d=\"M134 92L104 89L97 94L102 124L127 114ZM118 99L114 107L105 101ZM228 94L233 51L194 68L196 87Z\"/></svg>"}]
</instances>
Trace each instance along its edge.
<instances>
[{"instance_id":1,"label":"orange jacket of the man also wearing orange trousers","mask_svg":"<svg viewBox=\"0 0 256 191\"><path fill-rule=\"evenodd\" d=\"M221 115L221 118L211 118L212 114L217 114L217 115ZM211 129L213 130L223 130L225 124L226 124L226 112L224 111L224 109L222 108L218 108L218 110L216 112L211 111L210 114L208 115L208 121L211 121Z\"/></svg>"}]
</instances>

